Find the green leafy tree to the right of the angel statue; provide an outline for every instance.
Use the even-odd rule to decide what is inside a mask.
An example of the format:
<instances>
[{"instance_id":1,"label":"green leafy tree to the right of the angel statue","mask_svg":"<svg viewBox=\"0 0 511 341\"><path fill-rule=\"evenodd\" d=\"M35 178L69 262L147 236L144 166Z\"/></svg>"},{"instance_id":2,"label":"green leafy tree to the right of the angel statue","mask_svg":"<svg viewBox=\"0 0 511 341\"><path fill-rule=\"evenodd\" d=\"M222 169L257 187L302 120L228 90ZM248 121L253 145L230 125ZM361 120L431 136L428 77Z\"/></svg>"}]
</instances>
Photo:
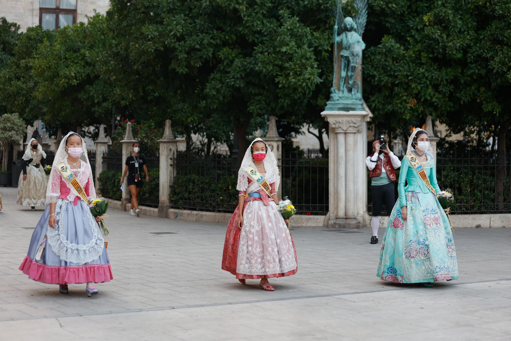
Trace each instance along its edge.
<instances>
[{"instance_id":1,"label":"green leafy tree to the right of the angel statue","mask_svg":"<svg viewBox=\"0 0 511 341\"><path fill-rule=\"evenodd\" d=\"M507 0L372 0L364 34L364 94L389 132L431 115L454 133L489 130L503 202L511 117L511 3ZM481 134L481 133L479 133Z\"/></svg>"}]
</instances>

